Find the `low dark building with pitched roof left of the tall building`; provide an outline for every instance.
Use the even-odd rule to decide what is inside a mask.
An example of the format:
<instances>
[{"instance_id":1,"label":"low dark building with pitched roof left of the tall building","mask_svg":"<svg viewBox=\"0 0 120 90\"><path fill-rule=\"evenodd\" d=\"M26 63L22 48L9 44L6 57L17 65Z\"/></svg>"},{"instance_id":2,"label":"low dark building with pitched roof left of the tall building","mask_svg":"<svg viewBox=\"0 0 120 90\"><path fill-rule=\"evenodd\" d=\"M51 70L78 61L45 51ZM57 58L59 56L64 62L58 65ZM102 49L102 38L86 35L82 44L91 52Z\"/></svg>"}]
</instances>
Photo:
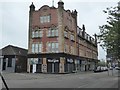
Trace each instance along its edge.
<instances>
[{"instance_id":1,"label":"low dark building with pitched roof left of the tall building","mask_svg":"<svg viewBox=\"0 0 120 90\"><path fill-rule=\"evenodd\" d=\"M2 49L0 67L5 72L27 72L28 50L8 45Z\"/></svg>"}]
</instances>

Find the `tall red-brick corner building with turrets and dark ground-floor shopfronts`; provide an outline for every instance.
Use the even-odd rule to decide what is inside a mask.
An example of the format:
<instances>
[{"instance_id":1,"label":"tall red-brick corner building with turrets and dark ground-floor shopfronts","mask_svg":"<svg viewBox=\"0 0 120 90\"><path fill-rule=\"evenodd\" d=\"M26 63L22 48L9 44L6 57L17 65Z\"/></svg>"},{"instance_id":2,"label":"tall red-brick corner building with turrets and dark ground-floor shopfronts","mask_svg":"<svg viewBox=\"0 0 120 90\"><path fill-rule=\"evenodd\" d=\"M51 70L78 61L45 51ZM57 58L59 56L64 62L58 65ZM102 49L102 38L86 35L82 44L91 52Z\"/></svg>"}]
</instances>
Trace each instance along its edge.
<instances>
[{"instance_id":1,"label":"tall red-brick corner building with turrets and dark ground-floor shopfronts","mask_svg":"<svg viewBox=\"0 0 120 90\"><path fill-rule=\"evenodd\" d=\"M92 70L97 63L96 40L77 26L77 11L42 6L29 11L27 72L72 73Z\"/></svg>"}]
</instances>

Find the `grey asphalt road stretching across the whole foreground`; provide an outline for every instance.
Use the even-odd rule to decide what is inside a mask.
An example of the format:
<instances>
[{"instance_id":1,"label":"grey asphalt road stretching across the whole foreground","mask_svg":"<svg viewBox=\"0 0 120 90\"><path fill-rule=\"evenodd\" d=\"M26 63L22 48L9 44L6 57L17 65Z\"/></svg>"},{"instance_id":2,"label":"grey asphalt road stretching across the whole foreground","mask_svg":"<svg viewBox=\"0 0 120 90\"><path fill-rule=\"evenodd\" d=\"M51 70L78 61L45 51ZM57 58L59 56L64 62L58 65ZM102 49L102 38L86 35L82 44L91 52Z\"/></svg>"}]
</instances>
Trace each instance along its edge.
<instances>
[{"instance_id":1,"label":"grey asphalt road stretching across the whole foreground","mask_svg":"<svg viewBox=\"0 0 120 90\"><path fill-rule=\"evenodd\" d=\"M3 73L9 88L118 88L118 72L72 74ZM4 87L4 85L3 85Z\"/></svg>"}]
</instances>

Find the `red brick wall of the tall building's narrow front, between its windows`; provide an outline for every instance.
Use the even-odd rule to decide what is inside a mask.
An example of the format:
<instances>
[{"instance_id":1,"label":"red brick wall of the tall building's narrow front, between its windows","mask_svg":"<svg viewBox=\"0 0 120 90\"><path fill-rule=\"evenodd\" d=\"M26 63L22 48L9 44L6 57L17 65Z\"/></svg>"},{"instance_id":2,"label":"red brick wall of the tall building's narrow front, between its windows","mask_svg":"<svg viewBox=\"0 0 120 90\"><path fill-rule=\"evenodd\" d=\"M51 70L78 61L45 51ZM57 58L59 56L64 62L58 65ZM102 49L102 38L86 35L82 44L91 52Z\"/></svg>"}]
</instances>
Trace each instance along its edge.
<instances>
[{"instance_id":1,"label":"red brick wall of the tall building's narrow front, between its windows","mask_svg":"<svg viewBox=\"0 0 120 90\"><path fill-rule=\"evenodd\" d=\"M44 15L51 15L51 21L49 23L40 23L40 16ZM33 12L33 21L32 21L32 28L35 27L44 29L43 30L43 37L38 39L32 39L32 42L42 42L43 44L43 52L46 52L46 43L52 42L52 41L58 41L56 37L49 38L46 35L46 32L48 31L49 27L52 25L58 26L58 18L57 18L57 9L50 8L49 6L44 5L39 10Z\"/></svg>"}]
</instances>

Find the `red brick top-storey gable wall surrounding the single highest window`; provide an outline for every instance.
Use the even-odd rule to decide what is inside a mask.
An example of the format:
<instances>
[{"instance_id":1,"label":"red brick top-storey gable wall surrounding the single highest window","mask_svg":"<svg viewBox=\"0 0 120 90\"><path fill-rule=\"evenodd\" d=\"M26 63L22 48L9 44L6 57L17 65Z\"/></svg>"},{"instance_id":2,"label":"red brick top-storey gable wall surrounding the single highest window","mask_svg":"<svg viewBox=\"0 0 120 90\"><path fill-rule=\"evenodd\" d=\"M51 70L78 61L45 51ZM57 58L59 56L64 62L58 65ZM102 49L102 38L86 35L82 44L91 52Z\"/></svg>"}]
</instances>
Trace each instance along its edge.
<instances>
[{"instance_id":1,"label":"red brick top-storey gable wall surrounding the single highest window","mask_svg":"<svg viewBox=\"0 0 120 90\"><path fill-rule=\"evenodd\" d=\"M51 15L51 22L50 23L40 23L40 16L44 15ZM33 24L32 26L38 26L41 28L44 27L50 27L52 24L58 25L58 19L57 19L57 9L50 8L49 6L43 6L39 10L33 12Z\"/></svg>"}]
</instances>

